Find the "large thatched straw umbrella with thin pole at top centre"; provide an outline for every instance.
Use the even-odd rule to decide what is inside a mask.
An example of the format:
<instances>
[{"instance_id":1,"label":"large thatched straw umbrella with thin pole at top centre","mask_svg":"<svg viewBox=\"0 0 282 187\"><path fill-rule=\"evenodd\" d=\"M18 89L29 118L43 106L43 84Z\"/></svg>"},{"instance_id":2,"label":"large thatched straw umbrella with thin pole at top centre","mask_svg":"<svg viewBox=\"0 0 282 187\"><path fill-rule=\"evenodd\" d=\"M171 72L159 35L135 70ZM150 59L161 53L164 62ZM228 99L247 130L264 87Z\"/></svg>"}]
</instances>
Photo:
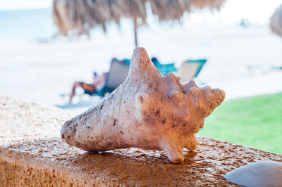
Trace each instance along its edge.
<instances>
[{"instance_id":1,"label":"large thatched straw umbrella with thin pole at top centre","mask_svg":"<svg viewBox=\"0 0 282 187\"><path fill-rule=\"evenodd\" d=\"M224 0L54 0L53 18L61 34L70 30L85 33L92 27L101 25L106 32L106 22L121 18L133 18L135 46L137 27L146 25L146 6L152 8L159 21L180 20L191 8L221 8Z\"/></svg>"}]
</instances>

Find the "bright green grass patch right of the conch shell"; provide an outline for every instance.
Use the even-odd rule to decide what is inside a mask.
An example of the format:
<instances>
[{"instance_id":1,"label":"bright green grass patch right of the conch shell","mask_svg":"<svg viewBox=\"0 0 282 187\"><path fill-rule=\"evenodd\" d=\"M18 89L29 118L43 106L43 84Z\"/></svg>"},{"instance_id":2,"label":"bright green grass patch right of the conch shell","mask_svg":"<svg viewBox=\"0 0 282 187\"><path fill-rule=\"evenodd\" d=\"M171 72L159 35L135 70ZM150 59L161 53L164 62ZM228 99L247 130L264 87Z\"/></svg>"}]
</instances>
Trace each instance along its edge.
<instances>
[{"instance_id":1,"label":"bright green grass patch right of the conch shell","mask_svg":"<svg viewBox=\"0 0 282 187\"><path fill-rule=\"evenodd\" d=\"M282 155L282 93L224 101L197 135Z\"/></svg>"}]
</instances>

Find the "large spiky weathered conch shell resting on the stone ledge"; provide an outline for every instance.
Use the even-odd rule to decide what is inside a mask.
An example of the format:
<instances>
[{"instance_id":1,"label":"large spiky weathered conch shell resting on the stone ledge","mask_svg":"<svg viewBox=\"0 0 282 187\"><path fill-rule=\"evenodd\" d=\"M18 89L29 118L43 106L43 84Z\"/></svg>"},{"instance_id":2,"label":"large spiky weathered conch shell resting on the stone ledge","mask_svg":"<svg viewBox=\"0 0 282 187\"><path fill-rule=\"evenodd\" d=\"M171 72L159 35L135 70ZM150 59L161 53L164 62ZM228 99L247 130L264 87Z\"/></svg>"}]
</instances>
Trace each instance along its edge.
<instances>
[{"instance_id":1,"label":"large spiky weathered conch shell resting on the stone ledge","mask_svg":"<svg viewBox=\"0 0 282 187\"><path fill-rule=\"evenodd\" d=\"M68 120L61 138L90 152L118 148L164 150L173 163L183 162L183 148L197 147L195 133L220 105L224 91L180 84L163 77L144 48L136 48L128 77L98 105Z\"/></svg>"}]
</instances>

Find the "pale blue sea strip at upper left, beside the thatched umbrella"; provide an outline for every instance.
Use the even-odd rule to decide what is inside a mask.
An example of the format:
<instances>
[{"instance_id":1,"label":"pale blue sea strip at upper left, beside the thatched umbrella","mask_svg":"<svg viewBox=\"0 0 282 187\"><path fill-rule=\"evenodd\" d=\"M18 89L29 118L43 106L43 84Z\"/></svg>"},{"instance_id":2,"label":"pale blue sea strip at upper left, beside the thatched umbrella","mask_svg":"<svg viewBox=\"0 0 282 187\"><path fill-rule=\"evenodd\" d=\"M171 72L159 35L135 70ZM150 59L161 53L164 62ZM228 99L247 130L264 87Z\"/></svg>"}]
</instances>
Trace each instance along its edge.
<instances>
[{"instance_id":1,"label":"pale blue sea strip at upper left, beside the thatched umbrella","mask_svg":"<svg viewBox=\"0 0 282 187\"><path fill-rule=\"evenodd\" d=\"M51 8L0 11L0 40L48 39L56 32Z\"/></svg>"}]
</instances>

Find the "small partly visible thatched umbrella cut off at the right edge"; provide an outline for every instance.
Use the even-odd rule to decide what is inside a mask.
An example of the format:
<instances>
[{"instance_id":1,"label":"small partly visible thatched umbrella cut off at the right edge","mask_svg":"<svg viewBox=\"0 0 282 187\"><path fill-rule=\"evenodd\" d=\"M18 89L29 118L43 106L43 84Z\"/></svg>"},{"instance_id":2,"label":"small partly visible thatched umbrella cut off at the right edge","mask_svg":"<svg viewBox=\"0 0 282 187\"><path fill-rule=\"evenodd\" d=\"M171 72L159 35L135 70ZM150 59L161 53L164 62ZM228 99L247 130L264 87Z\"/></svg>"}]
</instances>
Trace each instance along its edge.
<instances>
[{"instance_id":1,"label":"small partly visible thatched umbrella cut off at the right edge","mask_svg":"<svg viewBox=\"0 0 282 187\"><path fill-rule=\"evenodd\" d=\"M282 4L271 15L270 27L272 32L282 37Z\"/></svg>"}]
</instances>

